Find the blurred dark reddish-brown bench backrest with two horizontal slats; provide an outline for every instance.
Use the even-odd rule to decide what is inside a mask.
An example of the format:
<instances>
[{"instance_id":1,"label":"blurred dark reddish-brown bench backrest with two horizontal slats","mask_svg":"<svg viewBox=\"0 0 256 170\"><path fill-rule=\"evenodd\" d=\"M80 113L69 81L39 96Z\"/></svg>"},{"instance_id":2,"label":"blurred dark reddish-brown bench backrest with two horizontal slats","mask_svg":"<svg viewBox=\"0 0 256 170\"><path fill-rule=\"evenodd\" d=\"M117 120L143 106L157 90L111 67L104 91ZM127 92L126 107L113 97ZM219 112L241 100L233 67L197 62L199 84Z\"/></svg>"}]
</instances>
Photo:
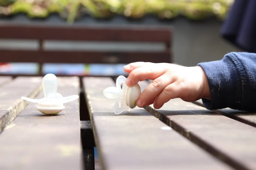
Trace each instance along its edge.
<instances>
[{"instance_id":1,"label":"blurred dark reddish-brown bench backrest with two horizontal slats","mask_svg":"<svg viewBox=\"0 0 256 170\"><path fill-rule=\"evenodd\" d=\"M0 39L38 40L38 50L0 50L0 62L34 62L40 68L44 63L107 63L128 64L144 61L171 63L171 28L159 27L89 27L49 24L0 23ZM164 43L163 51L77 51L45 50L46 40L102 41L102 42L147 42ZM40 70L40 74L42 74Z\"/></svg>"}]
</instances>

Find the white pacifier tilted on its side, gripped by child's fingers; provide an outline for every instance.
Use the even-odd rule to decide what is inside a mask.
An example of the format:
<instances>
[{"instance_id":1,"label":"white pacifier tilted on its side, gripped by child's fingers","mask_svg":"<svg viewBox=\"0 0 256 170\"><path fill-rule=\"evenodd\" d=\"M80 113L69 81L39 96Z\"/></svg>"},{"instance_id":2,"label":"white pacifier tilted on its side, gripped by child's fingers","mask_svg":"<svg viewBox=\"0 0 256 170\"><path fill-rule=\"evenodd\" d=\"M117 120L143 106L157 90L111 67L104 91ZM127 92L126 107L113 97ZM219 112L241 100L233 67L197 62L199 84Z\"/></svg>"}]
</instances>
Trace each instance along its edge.
<instances>
[{"instance_id":1,"label":"white pacifier tilted on its side, gripped by child's fingers","mask_svg":"<svg viewBox=\"0 0 256 170\"><path fill-rule=\"evenodd\" d=\"M116 87L108 87L103 91L103 94L109 99L116 99L114 105L115 114L119 115L126 109L130 111L131 108L136 107L136 101L141 94L139 84L135 84L132 87L126 85L126 79L124 76L119 76L116 79Z\"/></svg>"}]
</instances>

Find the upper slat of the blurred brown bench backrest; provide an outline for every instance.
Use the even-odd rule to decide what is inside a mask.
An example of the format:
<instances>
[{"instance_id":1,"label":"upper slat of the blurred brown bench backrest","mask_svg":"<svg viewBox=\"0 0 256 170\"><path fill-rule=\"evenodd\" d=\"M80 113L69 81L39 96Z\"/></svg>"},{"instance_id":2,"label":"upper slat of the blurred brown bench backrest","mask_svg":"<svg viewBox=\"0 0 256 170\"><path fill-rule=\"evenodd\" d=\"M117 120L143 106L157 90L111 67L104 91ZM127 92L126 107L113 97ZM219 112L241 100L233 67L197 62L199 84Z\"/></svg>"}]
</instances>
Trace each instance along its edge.
<instances>
[{"instance_id":1,"label":"upper slat of the blurred brown bench backrest","mask_svg":"<svg viewBox=\"0 0 256 170\"><path fill-rule=\"evenodd\" d=\"M171 28L106 28L1 23L0 38L170 43Z\"/></svg>"}]
</instances>

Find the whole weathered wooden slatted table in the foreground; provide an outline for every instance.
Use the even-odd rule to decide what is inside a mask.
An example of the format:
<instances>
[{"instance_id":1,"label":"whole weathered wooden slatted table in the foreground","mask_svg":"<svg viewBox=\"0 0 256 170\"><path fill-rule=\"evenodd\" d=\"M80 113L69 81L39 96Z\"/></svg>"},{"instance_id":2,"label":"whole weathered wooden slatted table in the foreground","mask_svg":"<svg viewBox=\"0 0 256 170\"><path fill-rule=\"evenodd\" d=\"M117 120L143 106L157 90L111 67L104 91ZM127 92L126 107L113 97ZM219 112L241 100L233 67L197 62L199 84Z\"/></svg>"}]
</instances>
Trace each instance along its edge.
<instances>
[{"instance_id":1,"label":"whole weathered wooden slatted table in the foreground","mask_svg":"<svg viewBox=\"0 0 256 170\"><path fill-rule=\"evenodd\" d=\"M77 77L61 77L58 92L80 94L80 100L47 116L20 99L41 98L41 81L0 77L1 170L94 169L94 145L104 170L256 169L253 113L210 111L200 101L173 99L158 110L136 107L115 115L115 99L102 93L115 86L112 78L84 77L80 84ZM140 82L142 90L148 83ZM80 118L86 114L81 106L90 121L79 121L79 112Z\"/></svg>"}]
</instances>

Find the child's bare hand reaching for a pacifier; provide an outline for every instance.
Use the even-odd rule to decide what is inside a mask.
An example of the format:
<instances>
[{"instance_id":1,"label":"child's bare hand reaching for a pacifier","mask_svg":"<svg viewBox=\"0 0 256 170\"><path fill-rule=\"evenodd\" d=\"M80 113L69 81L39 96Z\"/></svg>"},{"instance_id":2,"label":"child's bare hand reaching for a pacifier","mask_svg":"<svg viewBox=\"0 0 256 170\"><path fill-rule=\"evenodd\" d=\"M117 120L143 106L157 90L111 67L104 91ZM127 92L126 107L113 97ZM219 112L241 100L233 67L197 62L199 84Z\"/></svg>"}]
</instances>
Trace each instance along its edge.
<instances>
[{"instance_id":1,"label":"child's bare hand reaching for a pacifier","mask_svg":"<svg viewBox=\"0 0 256 170\"><path fill-rule=\"evenodd\" d=\"M158 109L174 98L187 102L210 99L207 77L200 66L137 62L124 66L124 70L129 74L126 81L129 87L139 81L153 80L137 100L139 107L154 103L154 107Z\"/></svg>"}]
</instances>

